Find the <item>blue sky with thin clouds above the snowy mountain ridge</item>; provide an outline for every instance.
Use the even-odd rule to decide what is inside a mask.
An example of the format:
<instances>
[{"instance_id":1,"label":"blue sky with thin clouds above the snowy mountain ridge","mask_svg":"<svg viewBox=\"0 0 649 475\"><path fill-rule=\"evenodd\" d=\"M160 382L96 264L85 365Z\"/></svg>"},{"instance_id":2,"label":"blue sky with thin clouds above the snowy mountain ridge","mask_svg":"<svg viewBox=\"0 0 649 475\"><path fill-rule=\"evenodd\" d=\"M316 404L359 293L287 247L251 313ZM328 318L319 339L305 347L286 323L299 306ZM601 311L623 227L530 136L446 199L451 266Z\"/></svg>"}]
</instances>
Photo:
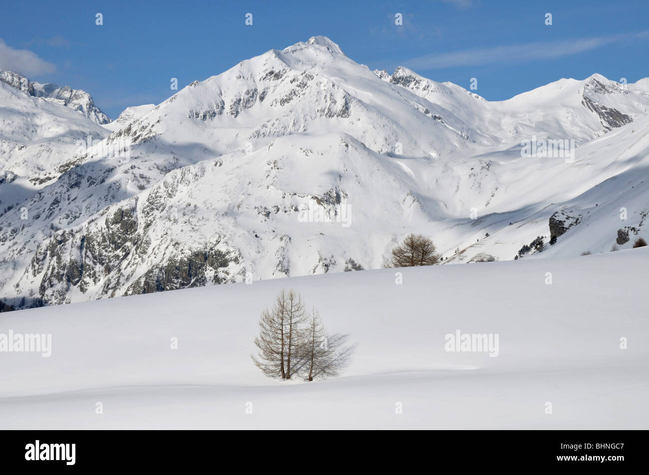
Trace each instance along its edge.
<instances>
[{"instance_id":1,"label":"blue sky with thin clouds above the snowy mountain ridge","mask_svg":"<svg viewBox=\"0 0 649 475\"><path fill-rule=\"evenodd\" d=\"M564 77L649 76L647 0L14 2L0 17L0 68L85 89L115 118L169 97L172 77L184 87L319 34L371 69L405 65L467 89L477 78L489 100Z\"/></svg>"}]
</instances>

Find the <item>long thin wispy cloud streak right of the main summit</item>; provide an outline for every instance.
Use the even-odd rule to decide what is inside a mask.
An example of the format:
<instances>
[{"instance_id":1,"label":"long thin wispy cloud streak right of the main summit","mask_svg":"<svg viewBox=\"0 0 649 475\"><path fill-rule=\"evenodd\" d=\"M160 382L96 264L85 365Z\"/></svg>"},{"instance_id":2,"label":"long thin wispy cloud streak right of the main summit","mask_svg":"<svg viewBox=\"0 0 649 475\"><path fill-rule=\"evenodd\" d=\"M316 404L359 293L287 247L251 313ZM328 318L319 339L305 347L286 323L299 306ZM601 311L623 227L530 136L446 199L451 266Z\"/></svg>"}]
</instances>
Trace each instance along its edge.
<instances>
[{"instance_id":1,"label":"long thin wispy cloud streak right of the main summit","mask_svg":"<svg viewBox=\"0 0 649 475\"><path fill-rule=\"evenodd\" d=\"M458 66L475 66L504 62L530 61L561 58L590 51L612 43L637 38L646 40L649 31L635 34L580 38L577 40L537 41L520 45L505 45L490 48L464 49L442 54L428 54L411 58L403 65L411 69L445 69Z\"/></svg>"}]
</instances>

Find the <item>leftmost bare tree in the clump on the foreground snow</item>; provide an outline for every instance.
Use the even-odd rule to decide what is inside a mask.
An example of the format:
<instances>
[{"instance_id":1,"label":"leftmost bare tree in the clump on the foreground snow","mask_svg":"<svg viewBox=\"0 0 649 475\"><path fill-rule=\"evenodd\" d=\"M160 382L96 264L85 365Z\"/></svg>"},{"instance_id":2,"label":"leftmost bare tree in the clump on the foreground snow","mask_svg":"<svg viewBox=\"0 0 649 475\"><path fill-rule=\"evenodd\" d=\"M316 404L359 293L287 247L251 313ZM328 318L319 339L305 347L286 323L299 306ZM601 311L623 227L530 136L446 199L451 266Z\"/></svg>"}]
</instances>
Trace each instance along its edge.
<instances>
[{"instance_id":1,"label":"leftmost bare tree in the clump on the foreground snow","mask_svg":"<svg viewBox=\"0 0 649 475\"><path fill-rule=\"evenodd\" d=\"M259 348L259 356L252 356L252 361L268 377L286 378L286 307L287 295L282 290L277 295L273 312L263 310L259 320L259 336L254 339L254 344Z\"/></svg>"}]
</instances>

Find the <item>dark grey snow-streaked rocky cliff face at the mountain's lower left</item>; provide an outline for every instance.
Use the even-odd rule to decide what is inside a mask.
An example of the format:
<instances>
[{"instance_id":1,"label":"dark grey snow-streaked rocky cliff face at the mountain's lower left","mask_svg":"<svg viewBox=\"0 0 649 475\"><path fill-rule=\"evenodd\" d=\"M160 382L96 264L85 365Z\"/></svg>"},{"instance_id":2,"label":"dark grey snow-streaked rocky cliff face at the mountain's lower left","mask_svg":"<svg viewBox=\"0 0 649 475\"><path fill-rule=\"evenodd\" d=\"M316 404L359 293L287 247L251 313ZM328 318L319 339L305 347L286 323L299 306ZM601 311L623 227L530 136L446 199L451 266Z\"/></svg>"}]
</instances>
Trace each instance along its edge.
<instances>
[{"instance_id":1,"label":"dark grey snow-streaked rocky cliff face at the mountain's lower left","mask_svg":"<svg viewBox=\"0 0 649 475\"><path fill-rule=\"evenodd\" d=\"M18 286L38 283L30 302L60 304L71 295L94 299L234 281L240 257L219 235L191 244L169 235L153 242L152 227L161 221L158 198L133 198L83 226L56 231L38 245Z\"/></svg>"}]
</instances>

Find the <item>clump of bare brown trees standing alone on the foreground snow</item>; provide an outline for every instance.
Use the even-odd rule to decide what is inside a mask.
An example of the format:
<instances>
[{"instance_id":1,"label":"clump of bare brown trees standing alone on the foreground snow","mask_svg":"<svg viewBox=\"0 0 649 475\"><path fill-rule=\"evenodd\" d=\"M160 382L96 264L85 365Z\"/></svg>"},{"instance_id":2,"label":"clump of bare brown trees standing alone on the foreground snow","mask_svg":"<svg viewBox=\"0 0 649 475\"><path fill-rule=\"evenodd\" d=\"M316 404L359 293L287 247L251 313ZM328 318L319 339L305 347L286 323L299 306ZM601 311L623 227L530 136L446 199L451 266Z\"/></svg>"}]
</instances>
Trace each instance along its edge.
<instances>
[{"instance_id":1,"label":"clump of bare brown trees standing alone on the foreground snow","mask_svg":"<svg viewBox=\"0 0 649 475\"><path fill-rule=\"evenodd\" d=\"M336 376L349 363L353 347L345 346L347 335L328 336L315 308L308 312L294 290L282 290L272 310L263 310L259 349L254 364L267 377L291 379Z\"/></svg>"}]
</instances>

